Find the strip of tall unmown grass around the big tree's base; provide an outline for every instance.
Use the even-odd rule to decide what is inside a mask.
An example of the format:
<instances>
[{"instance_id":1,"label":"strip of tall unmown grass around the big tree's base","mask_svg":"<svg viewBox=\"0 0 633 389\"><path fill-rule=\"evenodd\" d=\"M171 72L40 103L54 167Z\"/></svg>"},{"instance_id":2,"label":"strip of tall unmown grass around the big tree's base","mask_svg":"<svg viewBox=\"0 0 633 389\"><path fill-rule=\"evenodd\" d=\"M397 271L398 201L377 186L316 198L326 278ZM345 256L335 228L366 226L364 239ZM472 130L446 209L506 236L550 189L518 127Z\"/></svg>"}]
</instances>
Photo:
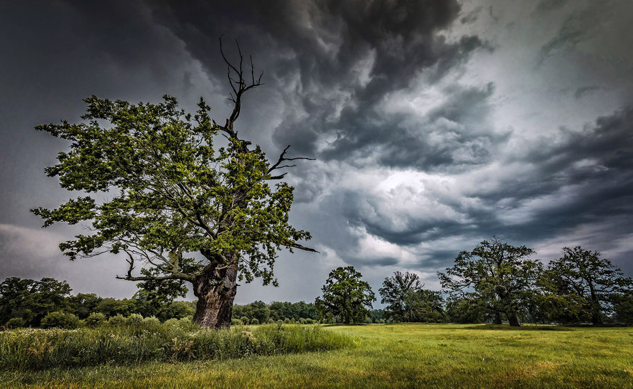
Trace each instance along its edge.
<instances>
[{"instance_id":1,"label":"strip of tall unmown grass around the big tree's base","mask_svg":"<svg viewBox=\"0 0 633 389\"><path fill-rule=\"evenodd\" d=\"M212 331L186 321L96 328L22 329L0 333L0 370L241 358L326 351L353 344L319 326L237 326Z\"/></svg>"}]
</instances>

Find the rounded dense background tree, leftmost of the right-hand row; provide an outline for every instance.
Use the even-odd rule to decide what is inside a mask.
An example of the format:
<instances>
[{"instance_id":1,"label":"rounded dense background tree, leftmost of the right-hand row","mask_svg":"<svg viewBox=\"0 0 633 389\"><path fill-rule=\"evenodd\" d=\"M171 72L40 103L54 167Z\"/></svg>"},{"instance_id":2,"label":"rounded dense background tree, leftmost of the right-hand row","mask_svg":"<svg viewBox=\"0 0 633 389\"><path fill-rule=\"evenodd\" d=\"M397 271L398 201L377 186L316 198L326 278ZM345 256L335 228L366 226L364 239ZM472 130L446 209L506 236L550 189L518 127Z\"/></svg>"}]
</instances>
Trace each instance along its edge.
<instances>
[{"instance_id":1,"label":"rounded dense background tree, leftmost of the right-hand row","mask_svg":"<svg viewBox=\"0 0 633 389\"><path fill-rule=\"evenodd\" d=\"M376 301L369 284L351 266L330 271L321 290L323 296L317 297L315 301L320 315L337 317L345 324L362 323L369 315L371 303Z\"/></svg>"}]
</instances>

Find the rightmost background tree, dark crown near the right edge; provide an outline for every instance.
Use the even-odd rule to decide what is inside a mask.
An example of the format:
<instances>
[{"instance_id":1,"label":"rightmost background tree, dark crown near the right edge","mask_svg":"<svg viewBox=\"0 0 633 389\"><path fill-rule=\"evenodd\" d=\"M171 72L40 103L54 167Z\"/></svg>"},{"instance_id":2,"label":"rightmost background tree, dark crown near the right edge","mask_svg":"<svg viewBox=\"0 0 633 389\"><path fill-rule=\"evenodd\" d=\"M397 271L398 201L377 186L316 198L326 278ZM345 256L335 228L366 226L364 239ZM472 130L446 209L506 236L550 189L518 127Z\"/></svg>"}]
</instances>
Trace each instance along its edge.
<instances>
[{"instance_id":1,"label":"rightmost background tree, dark crown near the right edge","mask_svg":"<svg viewBox=\"0 0 633 389\"><path fill-rule=\"evenodd\" d=\"M580 246L563 247L563 256L550 262L548 270L556 294L576 294L587 302L593 324L602 324L618 294L633 286L633 280L609 260L600 258L598 251Z\"/></svg>"}]
</instances>

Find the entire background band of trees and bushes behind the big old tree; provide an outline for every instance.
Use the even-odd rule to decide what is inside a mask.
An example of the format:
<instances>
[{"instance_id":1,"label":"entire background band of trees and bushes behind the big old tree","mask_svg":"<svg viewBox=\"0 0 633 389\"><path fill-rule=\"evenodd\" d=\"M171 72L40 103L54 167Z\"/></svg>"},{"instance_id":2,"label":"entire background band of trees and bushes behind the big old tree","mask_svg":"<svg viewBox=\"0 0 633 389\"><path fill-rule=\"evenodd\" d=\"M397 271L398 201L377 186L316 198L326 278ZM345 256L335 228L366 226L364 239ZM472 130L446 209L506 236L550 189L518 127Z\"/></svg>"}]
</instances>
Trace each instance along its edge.
<instances>
[{"instance_id":1,"label":"entire background band of trees and bushes behind the big old tree","mask_svg":"<svg viewBox=\"0 0 633 389\"><path fill-rule=\"evenodd\" d=\"M385 309L372 310L374 292L353 267L330 272L315 303L255 301L233 305L234 324L272 321L311 324L454 322L501 324L633 324L633 280L596 251L563 248L547 267L529 258L534 251L497 238L463 251L453 267L438 273L442 292L424 289L415 273L396 271L379 292ZM182 319L195 312L182 282L145 281L131 299L71 295L65 281L10 277L0 283L0 326L95 326L102 321Z\"/></svg>"}]
</instances>

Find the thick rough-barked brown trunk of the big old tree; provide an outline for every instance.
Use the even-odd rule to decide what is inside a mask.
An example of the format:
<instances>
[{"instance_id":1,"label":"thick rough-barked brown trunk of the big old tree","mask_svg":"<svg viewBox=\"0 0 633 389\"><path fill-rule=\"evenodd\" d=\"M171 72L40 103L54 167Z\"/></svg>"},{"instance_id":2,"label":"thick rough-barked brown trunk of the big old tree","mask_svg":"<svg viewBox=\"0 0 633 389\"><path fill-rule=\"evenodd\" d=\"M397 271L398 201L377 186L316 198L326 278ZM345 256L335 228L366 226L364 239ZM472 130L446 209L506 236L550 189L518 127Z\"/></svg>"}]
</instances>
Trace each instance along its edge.
<instances>
[{"instance_id":1,"label":"thick rough-barked brown trunk of the big old tree","mask_svg":"<svg viewBox=\"0 0 633 389\"><path fill-rule=\"evenodd\" d=\"M212 267L196 277L193 294L198 297L193 321L203 328L229 328L237 292L237 264L223 269Z\"/></svg>"}]
</instances>

